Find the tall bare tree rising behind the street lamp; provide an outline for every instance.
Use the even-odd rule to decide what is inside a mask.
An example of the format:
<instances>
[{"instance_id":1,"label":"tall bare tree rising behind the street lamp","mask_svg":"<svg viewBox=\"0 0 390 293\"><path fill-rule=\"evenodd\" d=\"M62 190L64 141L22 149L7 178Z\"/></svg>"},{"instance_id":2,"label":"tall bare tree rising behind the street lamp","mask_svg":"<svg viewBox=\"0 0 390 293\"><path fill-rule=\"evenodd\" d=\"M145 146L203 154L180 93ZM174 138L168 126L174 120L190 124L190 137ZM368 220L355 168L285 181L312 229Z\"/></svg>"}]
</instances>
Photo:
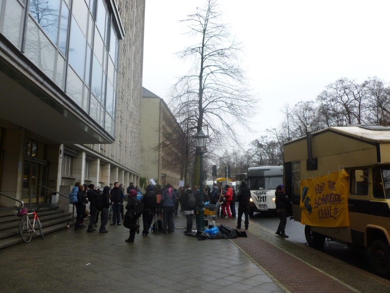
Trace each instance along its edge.
<instances>
[{"instance_id":1,"label":"tall bare tree rising behind the street lamp","mask_svg":"<svg viewBox=\"0 0 390 293\"><path fill-rule=\"evenodd\" d=\"M220 146L222 137L237 142L233 125L238 122L248 128L247 118L257 102L240 66L242 45L231 36L216 0L206 0L181 22L194 43L178 56L192 67L174 85L170 105L188 109L191 115L186 119L196 122L197 131L207 128L209 144ZM196 162L194 182L199 180Z\"/></svg>"}]
</instances>

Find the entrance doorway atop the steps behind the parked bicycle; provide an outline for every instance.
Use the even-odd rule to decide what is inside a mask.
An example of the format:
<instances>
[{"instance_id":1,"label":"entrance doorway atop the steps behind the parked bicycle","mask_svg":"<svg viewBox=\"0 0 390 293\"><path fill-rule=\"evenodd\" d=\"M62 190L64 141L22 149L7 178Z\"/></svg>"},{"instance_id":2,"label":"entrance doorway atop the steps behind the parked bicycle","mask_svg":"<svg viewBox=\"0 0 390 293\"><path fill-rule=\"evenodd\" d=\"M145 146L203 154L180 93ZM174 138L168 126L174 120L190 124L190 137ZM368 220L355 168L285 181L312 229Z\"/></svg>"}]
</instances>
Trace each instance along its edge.
<instances>
[{"instance_id":1,"label":"entrance doorway atop the steps behind the parked bicycle","mask_svg":"<svg viewBox=\"0 0 390 293\"><path fill-rule=\"evenodd\" d=\"M47 186L48 165L24 161L22 201L25 204L46 203L47 190L37 185Z\"/></svg>"}]
</instances>

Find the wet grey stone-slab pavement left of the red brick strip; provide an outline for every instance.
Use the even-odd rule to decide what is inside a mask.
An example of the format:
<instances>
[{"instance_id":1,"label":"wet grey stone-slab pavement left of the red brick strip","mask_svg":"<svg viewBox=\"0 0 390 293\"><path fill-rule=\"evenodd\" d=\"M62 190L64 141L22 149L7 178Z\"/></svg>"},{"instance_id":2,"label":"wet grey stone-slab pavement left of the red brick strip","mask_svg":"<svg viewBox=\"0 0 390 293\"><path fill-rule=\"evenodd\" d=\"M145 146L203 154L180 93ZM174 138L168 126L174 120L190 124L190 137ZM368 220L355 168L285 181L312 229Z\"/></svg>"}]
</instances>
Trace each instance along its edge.
<instances>
[{"instance_id":1,"label":"wet grey stone-slab pavement left of the red brick strip","mask_svg":"<svg viewBox=\"0 0 390 293\"><path fill-rule=\"evenodd\" d=\"M106 234L65 229L5 248L1 292L283 292L233 241L185 236L181 214L175 226L139 233L135 243L125 242L128 229L107 226Z\"/></svg>"}]
</instances>

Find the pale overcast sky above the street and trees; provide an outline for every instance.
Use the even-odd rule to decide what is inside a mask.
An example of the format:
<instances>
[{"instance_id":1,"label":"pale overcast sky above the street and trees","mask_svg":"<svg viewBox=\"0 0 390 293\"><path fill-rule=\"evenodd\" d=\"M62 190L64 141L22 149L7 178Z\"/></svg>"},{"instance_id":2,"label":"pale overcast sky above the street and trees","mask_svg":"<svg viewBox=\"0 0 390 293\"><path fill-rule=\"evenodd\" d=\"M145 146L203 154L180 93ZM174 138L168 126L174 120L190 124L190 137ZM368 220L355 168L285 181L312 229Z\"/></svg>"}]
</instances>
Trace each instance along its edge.
<instances>
[{"instance_id":1,"label":"pale overcast sky above the street and trees","mask_svg":"<svg viewBox=\"0 0 390 293\"><path fill-rule=\"evenodd\" d=\"M146 0L143 86L168 101L176 76L187 72L174 53L190 42L179 20L202 0ZM281 107L314 100L341 77L390 82L389 0L220 0L224 21L245 45L242 66L258 94L257 132L278 126Z\"/></svg>"}]
</instances>

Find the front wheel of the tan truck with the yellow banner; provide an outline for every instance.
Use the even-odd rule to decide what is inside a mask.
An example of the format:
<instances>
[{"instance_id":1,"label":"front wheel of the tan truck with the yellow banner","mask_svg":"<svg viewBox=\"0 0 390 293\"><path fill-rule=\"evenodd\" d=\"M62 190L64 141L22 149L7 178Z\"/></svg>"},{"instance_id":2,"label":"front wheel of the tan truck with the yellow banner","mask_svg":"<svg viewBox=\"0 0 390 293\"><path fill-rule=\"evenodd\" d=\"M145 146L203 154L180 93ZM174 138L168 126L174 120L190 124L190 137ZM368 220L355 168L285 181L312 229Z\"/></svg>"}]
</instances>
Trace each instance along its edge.
<instances>
[{"instance_id":1,"label":"front wheel of the tan truck with the yellow banner","mask_svg":"<svg viewBox=\"0 0 390 293\"><path fill-rule=\"evenodd\" d=\"M374 270L383 275L390 274L390 251L382 240L375 240L370 247L370 259Z\"/></svg>"}]
</instances>

